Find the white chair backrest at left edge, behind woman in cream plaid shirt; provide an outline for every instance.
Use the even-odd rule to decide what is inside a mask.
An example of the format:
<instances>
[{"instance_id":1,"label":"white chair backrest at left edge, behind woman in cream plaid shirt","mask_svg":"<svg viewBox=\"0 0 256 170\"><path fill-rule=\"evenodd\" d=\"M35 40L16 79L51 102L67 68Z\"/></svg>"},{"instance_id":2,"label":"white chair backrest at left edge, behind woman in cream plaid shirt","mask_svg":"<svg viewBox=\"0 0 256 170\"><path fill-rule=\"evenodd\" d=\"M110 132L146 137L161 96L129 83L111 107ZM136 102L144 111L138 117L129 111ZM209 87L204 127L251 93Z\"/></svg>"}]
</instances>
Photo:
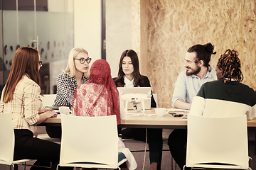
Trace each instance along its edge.
<instances>
[{"instance_id":1,"label":"white chair backrest at left edge, behind woman in cream plaid shirt","mask_svg":"<svg viewBox=\"0 0 256 170\"><path fill-rule=\"evenodd\" d=\"M0 113L0 164L11 165L14 159L14 126L10 113Z\"/></svg>"}]
</instances>

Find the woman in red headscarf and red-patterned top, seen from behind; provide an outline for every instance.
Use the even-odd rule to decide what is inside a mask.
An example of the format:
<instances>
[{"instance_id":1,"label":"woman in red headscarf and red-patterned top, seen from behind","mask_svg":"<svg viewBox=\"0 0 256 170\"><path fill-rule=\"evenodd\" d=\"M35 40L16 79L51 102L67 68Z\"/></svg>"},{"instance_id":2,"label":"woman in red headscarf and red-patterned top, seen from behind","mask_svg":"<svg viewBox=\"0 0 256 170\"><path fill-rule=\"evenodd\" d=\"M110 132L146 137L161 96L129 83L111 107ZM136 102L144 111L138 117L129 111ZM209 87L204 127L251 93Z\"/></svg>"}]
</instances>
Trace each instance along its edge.
<instances>
[{"instance_id":1,"label":"woman in red headscarf and red-patterned top, seen from behind","mask_svg":"<svg viewBox=\"0 0 256 170\"><path fill-rule=\"evenodd\" d=\"M119 93L111 77L110 65L105 60L96 60L90 70L90 81L78 86L73 97L73 108L77 116L117 115L117 125L120 124ZM119 142L122 142L119 140ZM119 146L124 145L119 143ZM119 148L119 151L122 152ZM128 150L128 152L127 152ZM128 160L128 168L136 169L137 164L129 149L123 152Z\"/></svg>"}]
</instances>

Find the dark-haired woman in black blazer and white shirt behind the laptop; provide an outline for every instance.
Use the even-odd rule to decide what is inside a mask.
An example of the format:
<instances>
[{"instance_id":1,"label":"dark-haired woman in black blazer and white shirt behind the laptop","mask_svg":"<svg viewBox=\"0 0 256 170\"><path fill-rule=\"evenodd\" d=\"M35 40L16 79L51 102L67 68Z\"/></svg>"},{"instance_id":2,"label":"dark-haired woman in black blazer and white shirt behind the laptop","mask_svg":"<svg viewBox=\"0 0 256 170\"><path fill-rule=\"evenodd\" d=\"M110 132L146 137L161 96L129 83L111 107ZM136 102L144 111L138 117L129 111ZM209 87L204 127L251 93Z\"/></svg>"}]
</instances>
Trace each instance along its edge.
<instances>
[{"instance_id":1,"label":"dark-haired woman in black blazer and white shirt behind the laptop","mask_svg":"<svg viewBox=\"0 0 256 170\"><path fill-rule=\"evenodd\" d=\"M150 87L149 79L139 72L139 59L134 50L125 50L119 62L118 77L114 78L117 87ZM151 96L151 108L156 108L156 102ZM146 142L146 129L126 128L121 131L122 137L133 138ZM161 169L163 148L162 129L147 129L149 143L150 169Z\"/></svg>"}]
</instances>

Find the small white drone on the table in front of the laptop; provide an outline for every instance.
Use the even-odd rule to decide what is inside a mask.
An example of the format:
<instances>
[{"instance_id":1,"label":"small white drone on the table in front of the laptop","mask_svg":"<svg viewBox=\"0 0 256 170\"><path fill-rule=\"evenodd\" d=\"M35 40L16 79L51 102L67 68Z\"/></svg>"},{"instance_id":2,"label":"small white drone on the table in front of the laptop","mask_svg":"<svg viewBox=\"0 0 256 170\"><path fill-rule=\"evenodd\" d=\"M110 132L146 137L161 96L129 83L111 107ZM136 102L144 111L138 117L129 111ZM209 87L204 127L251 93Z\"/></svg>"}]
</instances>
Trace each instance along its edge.
<instances>
[{"instance_id":1,"label":"small white drone on the table in front of the laptop","mask_svg":"<svg viewBox=\"0 0 256 170\"><path fill-rule=\"evenodd\" d=\"M133 103L134 110L137 112L140 111L140 108L138 108L138 104L142 102L142 115L145 115L145 100L149 100L151 98L151 91L149 91L149 94L123 94L122 100L125 101L125 113L128 113L128 103Z\"/></svg>"}]
</instances>

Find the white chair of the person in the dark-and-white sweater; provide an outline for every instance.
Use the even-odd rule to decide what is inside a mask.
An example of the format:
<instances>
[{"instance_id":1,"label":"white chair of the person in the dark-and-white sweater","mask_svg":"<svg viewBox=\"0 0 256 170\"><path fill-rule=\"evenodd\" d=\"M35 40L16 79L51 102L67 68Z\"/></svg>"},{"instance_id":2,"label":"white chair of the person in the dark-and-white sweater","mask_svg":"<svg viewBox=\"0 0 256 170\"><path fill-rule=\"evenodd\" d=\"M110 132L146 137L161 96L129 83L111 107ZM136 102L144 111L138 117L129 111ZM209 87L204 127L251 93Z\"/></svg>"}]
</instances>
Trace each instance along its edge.
<instances>
[{"instance_id":1,"label":"white chair of the person in the dark-and-white sweater","mask_svg":"<svg viewBox=\"0 0 256 170\"><path fill-rule=\"evenodd\" d=\"M246 115L207 118L188 114L187 167L250 169L249 159Z\"/></svg>"}]
</instances>

